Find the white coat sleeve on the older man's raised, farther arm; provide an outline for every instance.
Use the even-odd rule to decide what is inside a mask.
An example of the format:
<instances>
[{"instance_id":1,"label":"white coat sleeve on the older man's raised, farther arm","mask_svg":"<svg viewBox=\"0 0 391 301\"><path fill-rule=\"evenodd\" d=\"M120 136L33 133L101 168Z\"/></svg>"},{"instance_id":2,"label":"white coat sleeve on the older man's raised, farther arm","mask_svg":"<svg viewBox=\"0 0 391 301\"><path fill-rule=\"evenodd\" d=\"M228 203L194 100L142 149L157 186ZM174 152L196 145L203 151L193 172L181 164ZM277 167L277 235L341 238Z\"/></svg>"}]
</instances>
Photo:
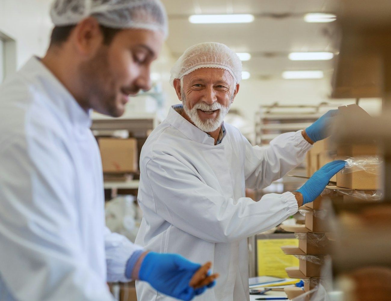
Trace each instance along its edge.
<instances>
[{"instance_id":1,"label":"white coat sleeve on the older man's raised, farther arm","mask_svg":"<svg viewBox=\"0 0 391 301\"><path fill-rule=\"evenodd\" d=\"M283 177L303 162L305 154L312 148L298 132L283 133L274 138L269 146L252 146L244 137L246 159L244 175L246 188L261 189Z\"/></svg>"}]
</instances>

